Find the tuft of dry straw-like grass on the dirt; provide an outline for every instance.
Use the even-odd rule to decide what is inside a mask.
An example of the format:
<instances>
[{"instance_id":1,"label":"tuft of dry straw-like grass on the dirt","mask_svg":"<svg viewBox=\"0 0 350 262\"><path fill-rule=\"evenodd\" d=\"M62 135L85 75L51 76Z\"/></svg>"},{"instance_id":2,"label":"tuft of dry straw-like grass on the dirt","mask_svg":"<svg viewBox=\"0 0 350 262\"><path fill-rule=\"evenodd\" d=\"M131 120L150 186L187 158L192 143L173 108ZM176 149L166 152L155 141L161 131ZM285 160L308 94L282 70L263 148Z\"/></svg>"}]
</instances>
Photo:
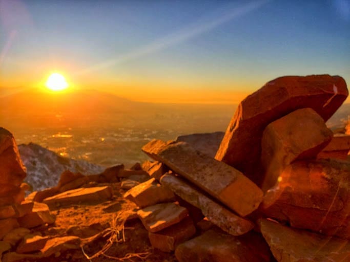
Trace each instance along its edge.
<instances>
[{"instance_id":1,"label":"tuft of dry straw-like grass on the dirt","mask_svg":"<svg viewBox=\"0 0 350 262\"><path fill-rule=\"evenodd\" d=\"M118 215L113 214L111 226L101 233L102 237L109 236L105 246L102 247L101 250L96 252L94 255L89 256L84 251L83 245L81 246L81 251L83 251L83 254L85 255L85 257L88 260L91 261L93 258L96 258L96 257L102 255L102 256L108 257L110 259L117 260L117 261L133 261L132 258L139 258L139 259L143 260L151 255L150 252L128 253L124 257L115 257L115 256L111 256L111 255L106 254L106 252L112 247L112 245L114 243L118 245L118 243L126 242L125 229L128 229L128 228L125 228L124 225L128 219L128 216L125 216L124 218L122 218L120 214L121 213L118 213Z\"/></svg>"}]
</instances>

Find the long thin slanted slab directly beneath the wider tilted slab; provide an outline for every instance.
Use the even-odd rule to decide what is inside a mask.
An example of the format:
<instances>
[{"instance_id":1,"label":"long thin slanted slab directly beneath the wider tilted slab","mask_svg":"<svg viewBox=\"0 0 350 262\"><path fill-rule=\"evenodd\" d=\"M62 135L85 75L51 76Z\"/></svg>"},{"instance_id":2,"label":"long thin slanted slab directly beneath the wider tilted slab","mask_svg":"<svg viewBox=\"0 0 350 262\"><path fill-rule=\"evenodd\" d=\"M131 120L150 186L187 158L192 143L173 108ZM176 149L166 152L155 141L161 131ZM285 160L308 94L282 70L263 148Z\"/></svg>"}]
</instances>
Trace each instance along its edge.
<instances>
[{"instance_id":1,"label":"long thin slanted slab directly beneath the wider tilted slab","mask_svg":"<svg viewBox=\"0 0 350 262\"><path fill-rule=\"evenodd\" d=\"M180 198L202 210L213 224L232 235L242 235L254 228L254 224L217 204L189 183L171 174L164 174L160 182L173 190Z\"/></svg>"}]
</instances>

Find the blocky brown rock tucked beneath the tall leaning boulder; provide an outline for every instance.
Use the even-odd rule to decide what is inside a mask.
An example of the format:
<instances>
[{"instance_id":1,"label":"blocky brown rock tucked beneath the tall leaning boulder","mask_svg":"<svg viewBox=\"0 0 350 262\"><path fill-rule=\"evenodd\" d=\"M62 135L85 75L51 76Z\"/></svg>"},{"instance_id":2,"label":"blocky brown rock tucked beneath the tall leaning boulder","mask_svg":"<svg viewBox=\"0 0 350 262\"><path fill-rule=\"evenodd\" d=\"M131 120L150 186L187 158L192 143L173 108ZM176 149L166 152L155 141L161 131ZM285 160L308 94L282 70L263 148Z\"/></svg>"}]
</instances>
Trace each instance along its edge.
<instances>
[{"instance_id":1,"label":"blocky brown rock tucked beneath the tall leaning boulder","mask_svg":"<svg viewBox=\"0 0 350 262\"><path fill-rule=\"evenodd\" d=\"M284 167L296 159L315 159L333 132L311 108L296 110L266 126L261 138L261 189L273 187ZM255 181L258 185L260 181Z\"/></svg>"}]
</instances>

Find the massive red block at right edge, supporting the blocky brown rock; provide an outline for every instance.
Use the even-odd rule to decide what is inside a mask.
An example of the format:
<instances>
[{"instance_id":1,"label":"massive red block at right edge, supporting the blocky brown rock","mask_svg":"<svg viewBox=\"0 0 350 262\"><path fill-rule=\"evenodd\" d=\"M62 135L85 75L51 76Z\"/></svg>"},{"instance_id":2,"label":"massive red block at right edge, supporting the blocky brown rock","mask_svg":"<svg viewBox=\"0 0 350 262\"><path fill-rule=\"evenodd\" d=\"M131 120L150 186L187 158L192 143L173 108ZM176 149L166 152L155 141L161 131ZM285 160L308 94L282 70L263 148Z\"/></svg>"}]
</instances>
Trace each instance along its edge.
<instances>
[{"instance_id":1,"label":"massive red block at right edge, supporting the blocky brown rock","mask_svg":"<svg viewBox=\"0 0 350 262\"><path fill-rule=\"evenodd\" d=\"M294 162L267 191L261 210L295 228L350 239L350 162Z\"/></svg>"}]
</instances>

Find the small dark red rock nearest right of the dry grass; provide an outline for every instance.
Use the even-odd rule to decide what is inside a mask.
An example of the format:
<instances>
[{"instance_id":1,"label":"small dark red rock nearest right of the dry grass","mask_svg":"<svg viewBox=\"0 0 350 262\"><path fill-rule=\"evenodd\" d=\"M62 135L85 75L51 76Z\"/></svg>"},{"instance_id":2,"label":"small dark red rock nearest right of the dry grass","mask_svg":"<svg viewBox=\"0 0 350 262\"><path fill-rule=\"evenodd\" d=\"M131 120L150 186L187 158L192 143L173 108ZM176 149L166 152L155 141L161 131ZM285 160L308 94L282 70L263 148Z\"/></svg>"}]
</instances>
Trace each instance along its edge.
<instances>
[{"instance_id":1,"label":"small dark red rock nearest right of the dry grass","mask_svg":"<svg viewBox=\"0 0 350 262\"><path fill-rule=\"evenodd\" d=\"M160 249L163 252L171 252L179 244L190 239L195 233L196 228L190 217L187 217L180 223L156 233L149 232L148 237L150 238L152 247Z\"/></svg>"}]
</instances>

